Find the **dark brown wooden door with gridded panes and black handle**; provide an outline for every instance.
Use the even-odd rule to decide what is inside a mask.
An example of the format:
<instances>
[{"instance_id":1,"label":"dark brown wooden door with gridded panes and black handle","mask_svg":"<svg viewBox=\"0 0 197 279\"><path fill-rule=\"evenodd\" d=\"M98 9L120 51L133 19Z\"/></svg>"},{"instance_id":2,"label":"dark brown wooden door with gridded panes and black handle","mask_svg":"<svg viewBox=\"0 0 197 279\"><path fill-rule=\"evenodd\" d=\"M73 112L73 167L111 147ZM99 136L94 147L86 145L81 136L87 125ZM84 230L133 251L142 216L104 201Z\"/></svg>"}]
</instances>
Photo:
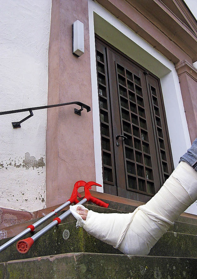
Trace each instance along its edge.
<instances>
[{"instance_id":1,"label":"dark brown wooden door with gridded panes and black handle","mask_svg":"<svg viewBox=\"0 0 197 279\"><path fill-rule=\"evenodd\" d=\"M96 39L104 192L147 202L172 172L159 80Z\"/></svg>"}]
</instances>

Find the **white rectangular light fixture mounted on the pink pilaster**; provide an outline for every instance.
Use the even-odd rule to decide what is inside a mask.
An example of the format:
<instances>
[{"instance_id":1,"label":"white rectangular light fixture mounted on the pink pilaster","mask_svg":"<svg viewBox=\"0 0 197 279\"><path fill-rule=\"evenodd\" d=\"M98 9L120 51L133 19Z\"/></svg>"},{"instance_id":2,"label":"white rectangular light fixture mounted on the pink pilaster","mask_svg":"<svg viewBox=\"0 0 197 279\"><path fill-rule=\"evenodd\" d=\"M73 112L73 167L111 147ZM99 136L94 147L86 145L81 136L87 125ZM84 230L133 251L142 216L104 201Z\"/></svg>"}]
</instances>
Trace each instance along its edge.
<instances>
[{"instance_id":1,"label":"white rectangular light fixture mounted on the pink pilaster","mask_svg":"<svg viewBox=\"0 0 197 279\"><path fill-rule=\"evenodd\" d=\"M81 56L84 53L84 27L83 23L76 20L73 23L73 54Z\"/></svg>"}]
</instances>

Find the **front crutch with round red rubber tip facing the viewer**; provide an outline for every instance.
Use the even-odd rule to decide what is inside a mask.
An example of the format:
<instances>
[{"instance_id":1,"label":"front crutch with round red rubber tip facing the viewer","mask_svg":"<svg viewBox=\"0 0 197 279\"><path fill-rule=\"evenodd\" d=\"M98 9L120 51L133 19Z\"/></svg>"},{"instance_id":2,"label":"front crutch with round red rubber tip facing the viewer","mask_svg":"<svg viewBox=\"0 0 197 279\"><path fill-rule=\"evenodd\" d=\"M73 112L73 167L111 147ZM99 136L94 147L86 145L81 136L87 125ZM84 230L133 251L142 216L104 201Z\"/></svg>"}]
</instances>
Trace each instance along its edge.
<instances>
[{"instance_id":1,"label":"front crutch with round red rubber tip facing the viewer","mask_svg":"<svg viewBox=\"0 0 197 279\"><path fill-rule=\"evenodd\" d=\"M109 204L105 203L101 200L99 200L98 198L94 198L91 194L89 189L93 186L100 186L102 187L100 184L95 183L93 181L90 181L88 183L86 183L86 185L84 186L84 191L85 191L85 197L78 202L77 204L84 204L87 201L91 201L95 204L97 204L98 206L103 206L103 207L108 207ZM59 217L56 217L49 225L47 225L46 227L44 227L42 230L38 231L38 233L34 234L32 237L23 239L23 240L19 240L17 242L16 248L18 250L19 253L25 254L27 253L31 246L34 244L34 242L40 238L43 234L45 234L47 231L49 231L51 228L53 228L54 226L58 225L61 223L61 221L63 219L65 219L66 217L68 217L70 215L70 209L67 210L66 212L64 212L62 215L60 215Z\"/></svg>"}]
</instances>

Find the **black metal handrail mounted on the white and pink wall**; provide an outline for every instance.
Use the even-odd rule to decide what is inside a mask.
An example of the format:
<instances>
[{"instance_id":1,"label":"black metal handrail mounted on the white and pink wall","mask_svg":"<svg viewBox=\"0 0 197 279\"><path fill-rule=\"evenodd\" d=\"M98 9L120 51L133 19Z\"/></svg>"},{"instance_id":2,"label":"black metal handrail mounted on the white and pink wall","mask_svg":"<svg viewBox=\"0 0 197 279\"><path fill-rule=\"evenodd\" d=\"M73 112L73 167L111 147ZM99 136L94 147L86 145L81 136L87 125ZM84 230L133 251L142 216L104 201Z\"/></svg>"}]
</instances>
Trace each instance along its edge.
<instances>
[{"instance_id":1,"label":"black metal handrail mounted on the white and pink wall","mask_svg":"<svg viewBox=\"0 0 197 279\"><path fill-rule=\"evenodd\" d=\"M47 106L41 106L41 107L35 107L35 108L15 109L15 110L10 110L10 111L6 111L6 112L0 112L0 115L17 113L17 112L28 112L29 111L30 115L23 118L21 121L12 122L13 128L20 128L22 122L24 122L25 120L27 120L28 118L30 118L31 116L34 115L32 110L44 109L44 108L55 108L55 107L61 107L61 106L66 106L66 105L70 105L70 104L77 104L78 106L81 107L80 109L76 109L76 108L74 109L74 113L76 113L78 115L81 115L81 112L82 112L83 108L85 108L87 112L90 112L90 110L91 110L91 108L88 105L83 104L82 102L76 101L76 102L63 103L63 104L53 104L53 105L47 105Z\"/></svg>"}]
</instances>

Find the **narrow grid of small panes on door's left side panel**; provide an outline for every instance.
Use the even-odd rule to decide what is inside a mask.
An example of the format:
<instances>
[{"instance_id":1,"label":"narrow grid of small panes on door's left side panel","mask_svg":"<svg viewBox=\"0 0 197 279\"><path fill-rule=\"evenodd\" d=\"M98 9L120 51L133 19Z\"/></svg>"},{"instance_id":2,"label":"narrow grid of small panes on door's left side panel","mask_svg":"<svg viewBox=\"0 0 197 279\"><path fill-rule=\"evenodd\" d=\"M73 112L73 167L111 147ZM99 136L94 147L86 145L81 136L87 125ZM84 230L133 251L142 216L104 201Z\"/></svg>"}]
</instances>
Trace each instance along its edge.
<instances>
[{"instance_id":1,"label":"narrow grid of small panes on door's left side panel","mask_svg":"<svg viewBox=\"0 0 197 279\"><path fill-rule=\"evenodd\" d=\"M110 104L106 79L106 68L103 53L96 50L98 98L100 109L101 141L103 156L103 180L114 183L114 171L112 161L112 142L110 125Z\"/></svg>"}]
</instances>

